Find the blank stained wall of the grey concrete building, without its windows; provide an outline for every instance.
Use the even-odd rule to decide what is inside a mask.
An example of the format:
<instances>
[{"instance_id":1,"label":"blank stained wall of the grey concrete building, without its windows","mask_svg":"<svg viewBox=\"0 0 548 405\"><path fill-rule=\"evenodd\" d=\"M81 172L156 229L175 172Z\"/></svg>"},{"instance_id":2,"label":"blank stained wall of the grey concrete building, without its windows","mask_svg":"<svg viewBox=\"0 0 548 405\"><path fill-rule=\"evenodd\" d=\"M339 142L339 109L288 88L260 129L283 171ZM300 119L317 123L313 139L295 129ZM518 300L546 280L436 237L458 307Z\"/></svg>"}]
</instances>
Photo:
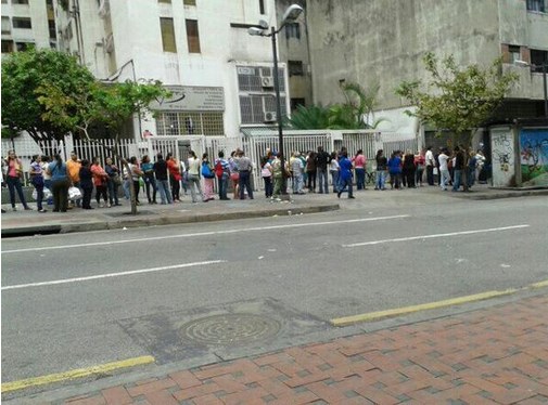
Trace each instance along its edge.
<instances>
[{"instance_id":1,"label":"blank stained wall of the grey concrete building, without its windows","mask_svg":"<svg viewBox=\"0 0 548 405\"><path fill-rule=\"evenodd\" d=\"M399 107L394 89L425 78L426 51L489 63L500 54L497 8L498 0L309 0L315 100L341 101L333 100L341 79L378 81L380 107Z\"/></svg>"}]
</instances>

